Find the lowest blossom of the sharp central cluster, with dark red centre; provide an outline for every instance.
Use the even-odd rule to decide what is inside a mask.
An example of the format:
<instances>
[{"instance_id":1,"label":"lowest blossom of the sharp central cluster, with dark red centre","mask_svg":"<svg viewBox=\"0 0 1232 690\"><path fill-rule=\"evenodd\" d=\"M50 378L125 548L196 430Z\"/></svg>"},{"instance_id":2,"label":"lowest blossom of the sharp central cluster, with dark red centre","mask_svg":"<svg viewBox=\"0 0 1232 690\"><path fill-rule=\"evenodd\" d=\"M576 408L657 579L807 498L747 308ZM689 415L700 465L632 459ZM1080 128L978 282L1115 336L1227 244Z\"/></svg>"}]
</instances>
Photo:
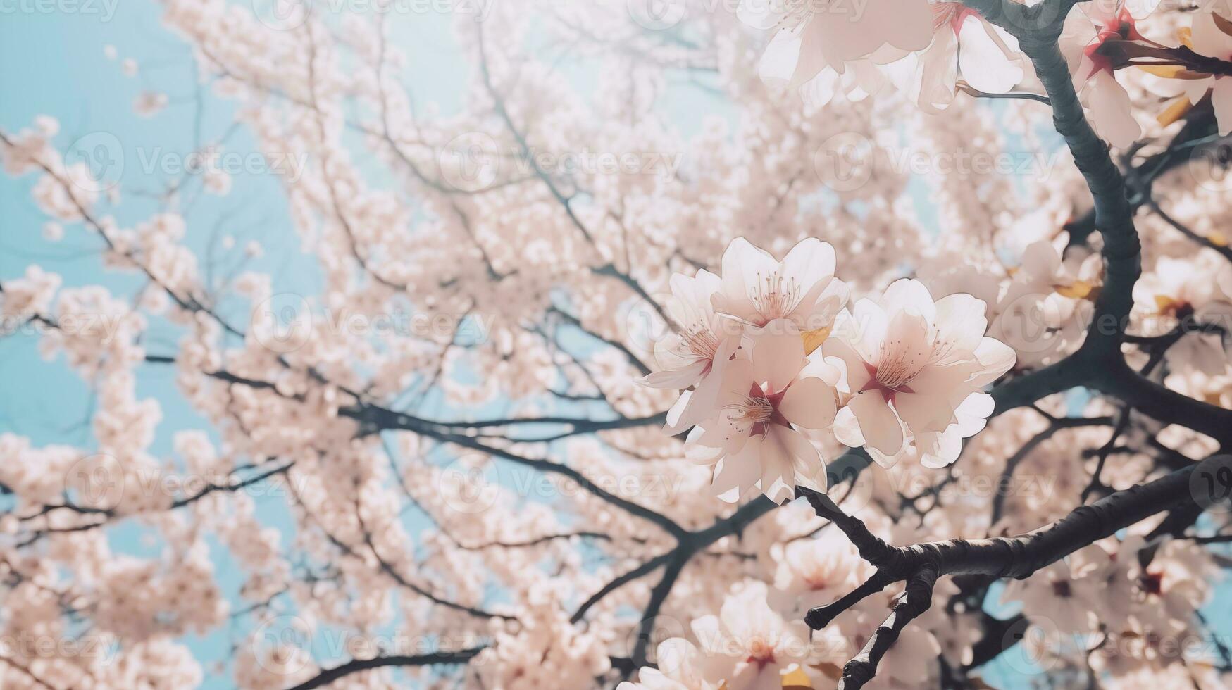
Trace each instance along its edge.
<instances>
[{"instance_id":1,"label":"lowest blossom of the sharp central cluster, with dark red centre","mask_svg":"<svg viewBox=\"0 0 1232 690\"><path fill-rule=\"evenodd\" d=\"M727 500L753 487L777 503L797 484L824 490L821 453L797 428L834 420L834 372L819 359L806 367L804 341L787 319L752 329L748 341L727 365L713 416L690 432L701 446L695 461L716 466L715 493Z\"/></svg>"}]
</instances>

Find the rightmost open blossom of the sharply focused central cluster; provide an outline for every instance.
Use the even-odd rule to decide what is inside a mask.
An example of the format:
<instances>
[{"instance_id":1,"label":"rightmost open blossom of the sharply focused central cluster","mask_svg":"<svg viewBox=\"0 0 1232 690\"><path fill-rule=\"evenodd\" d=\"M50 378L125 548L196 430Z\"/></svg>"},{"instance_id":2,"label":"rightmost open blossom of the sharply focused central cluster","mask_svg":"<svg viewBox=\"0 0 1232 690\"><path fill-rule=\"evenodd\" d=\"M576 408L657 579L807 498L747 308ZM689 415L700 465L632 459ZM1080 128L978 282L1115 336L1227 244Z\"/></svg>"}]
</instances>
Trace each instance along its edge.
<instances>
[{"instance_id":1,"label":"rightmost open blossom of the sharply focused central cluster","mask_svg":"<svg viewBox=\"0 0 1232 690\"><path fill-rule=\"evenodd\" d=\"M934 434L992 414L979 391L1015 357L984 338L981 299L960 293L934 302L924 283L903 278L880 301L856 302L853 317L822 346L845 371L848 399L834 425L840 441L892 463L910 436L939 451L942 439Z\"/></svg>"}]
</instances>

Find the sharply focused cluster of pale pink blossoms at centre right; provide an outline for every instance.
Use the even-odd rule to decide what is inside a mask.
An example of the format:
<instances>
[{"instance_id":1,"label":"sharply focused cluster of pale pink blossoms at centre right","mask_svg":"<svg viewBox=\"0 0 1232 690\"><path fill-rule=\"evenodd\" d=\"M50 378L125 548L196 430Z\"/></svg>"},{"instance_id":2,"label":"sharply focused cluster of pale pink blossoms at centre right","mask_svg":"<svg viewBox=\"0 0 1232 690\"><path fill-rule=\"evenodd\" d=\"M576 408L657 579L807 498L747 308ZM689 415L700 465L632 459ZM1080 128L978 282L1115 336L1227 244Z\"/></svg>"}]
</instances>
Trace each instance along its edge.
<instances>
[{"instance_id":1,"label":"sharply focused cluster of pale pink blossoms at centre right","mask_svg":"<svg viewBox=\"0 0 1232 690\"><path fill-rule=\"evenodd\" d=\"M657 346L657 388L690 388L668 413L689 431L715 492L736 501L756 487L777 503L802 485L825 490L825 435L892 466L914 450L926 467L958 457L993 412L983 388L1014 366L984 336L986 304L933 298L918 280L848 308L834 249L804 239L782 261L736 239L723 276L671 278L678 331ZM691 430L690 430L691 428Z\"/></svg>"}]
</instances>

